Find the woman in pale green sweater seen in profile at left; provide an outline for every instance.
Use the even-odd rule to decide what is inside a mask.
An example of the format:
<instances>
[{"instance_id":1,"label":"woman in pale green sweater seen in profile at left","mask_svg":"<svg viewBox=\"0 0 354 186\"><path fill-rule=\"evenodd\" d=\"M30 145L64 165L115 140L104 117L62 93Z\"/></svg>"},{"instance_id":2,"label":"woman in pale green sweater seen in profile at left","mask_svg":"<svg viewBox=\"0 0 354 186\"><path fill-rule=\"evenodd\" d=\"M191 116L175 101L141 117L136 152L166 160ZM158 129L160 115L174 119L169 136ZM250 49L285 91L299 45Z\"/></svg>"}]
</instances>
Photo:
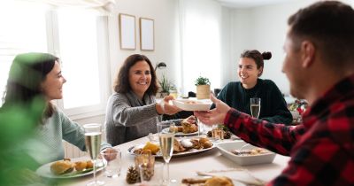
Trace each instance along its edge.
<instances>
[{"instance_id":1,"label":"woman in pale green sweater seen in profile at left","mask_svg":"<svg viewBox=\"0 0 354 186\"><path fill-rule=\"evenodd\" d=\"M38 103L44 103L44 109L35 125L35 138L24 142L28 143L27 153L39 164L64 159L62 140L86 151L83 128L50 103L63 97L65 81L59 58L51 54L26 53L13 59L1 109L13 105L26 106L34 100L42 100ZM36 146L32 146L34 142ZM101 148L107 147L111 145L103 143Z\"/></svg>"}]
</instances>

